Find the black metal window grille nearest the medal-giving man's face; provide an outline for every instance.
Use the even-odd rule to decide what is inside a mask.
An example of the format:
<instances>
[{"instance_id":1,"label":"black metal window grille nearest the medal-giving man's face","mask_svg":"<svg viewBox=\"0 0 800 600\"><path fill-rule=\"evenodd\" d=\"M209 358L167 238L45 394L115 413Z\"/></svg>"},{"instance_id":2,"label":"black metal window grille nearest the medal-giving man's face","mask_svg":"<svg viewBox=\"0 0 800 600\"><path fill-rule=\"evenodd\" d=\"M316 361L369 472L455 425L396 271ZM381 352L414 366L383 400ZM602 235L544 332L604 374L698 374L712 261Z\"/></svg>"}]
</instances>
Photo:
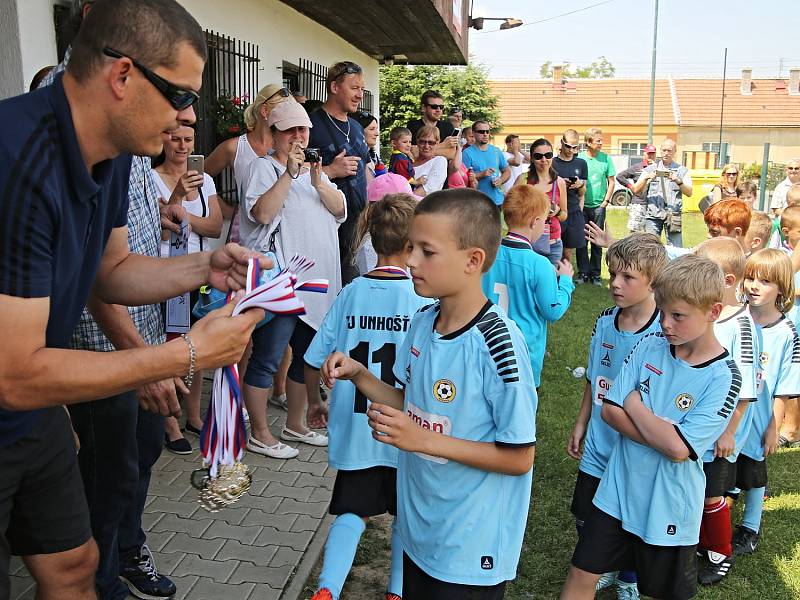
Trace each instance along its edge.
<instances>
[{"instance_id":1,"label":"black metal window grille nearest the medal-giving man's face","mask_svg":"<svg viewBox=\"0 0 800 600\"><path fill-rule=\"evenodd\" d=\"M258 45L206 29L208 61L203 70L200 101L195 107L195 152L209 155L226 138L217 133L216 101L222 94L242 96L247 102L258 94ZM230 137L230 136L228 136ZM230 204L238 200L233 170L214 178L217 194Z\"/></svg>"}]
</instances>

